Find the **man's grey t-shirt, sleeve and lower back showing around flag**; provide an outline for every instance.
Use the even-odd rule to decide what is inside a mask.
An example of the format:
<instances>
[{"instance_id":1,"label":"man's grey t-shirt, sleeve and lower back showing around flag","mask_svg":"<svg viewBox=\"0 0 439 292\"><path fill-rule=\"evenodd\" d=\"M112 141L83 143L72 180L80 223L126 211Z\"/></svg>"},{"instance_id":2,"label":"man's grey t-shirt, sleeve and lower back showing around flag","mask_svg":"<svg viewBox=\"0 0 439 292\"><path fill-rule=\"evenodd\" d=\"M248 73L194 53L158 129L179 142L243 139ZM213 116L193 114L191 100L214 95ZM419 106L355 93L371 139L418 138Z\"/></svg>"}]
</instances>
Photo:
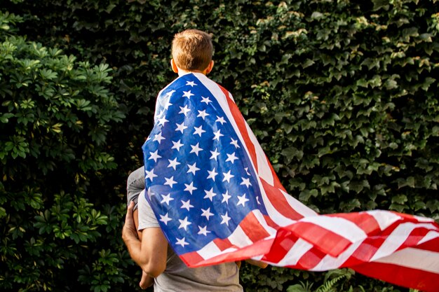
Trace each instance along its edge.
<instances>
[{"instance_id":1,"label":"man's grey t-shirt, sleeve and lower back showing around flag","mask_svg":"<svg viewBox=\"0 0 439 292\"><path fill-rule=\"evenodd\" d=\"M139 230L145 228L160 228L154 211L144 192L137 200L139 208ZM208 267L189 268L177 256L168 244L166 270L154 279L155 292L241 292L239 284L239 269L236 263L222 263Z\"/></svg>"}]
</instances>

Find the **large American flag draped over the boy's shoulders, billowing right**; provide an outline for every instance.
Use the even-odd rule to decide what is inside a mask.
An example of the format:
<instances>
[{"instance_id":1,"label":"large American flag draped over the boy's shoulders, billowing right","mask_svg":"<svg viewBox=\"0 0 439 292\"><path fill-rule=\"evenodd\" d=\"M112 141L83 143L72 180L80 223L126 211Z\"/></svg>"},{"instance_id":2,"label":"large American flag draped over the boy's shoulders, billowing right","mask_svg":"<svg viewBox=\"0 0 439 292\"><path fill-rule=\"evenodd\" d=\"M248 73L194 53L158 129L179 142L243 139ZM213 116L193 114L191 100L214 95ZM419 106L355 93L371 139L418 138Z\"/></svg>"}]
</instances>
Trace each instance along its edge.
<instances>
[{"instance_id":1,"label":"large American flag draped over the boy's shoulders, billowing right","mask_svg":"<svg viewBox=\"0 0 439 292\"><path fill-rule=\"evenodd\" d=\"M142 147L145 187L189 267L253 258L323 271L351 267L439 291L439 225L392 211L316 214L285 193L227 90L203 74L158 95Z\"/></svg>"}]
</instances>

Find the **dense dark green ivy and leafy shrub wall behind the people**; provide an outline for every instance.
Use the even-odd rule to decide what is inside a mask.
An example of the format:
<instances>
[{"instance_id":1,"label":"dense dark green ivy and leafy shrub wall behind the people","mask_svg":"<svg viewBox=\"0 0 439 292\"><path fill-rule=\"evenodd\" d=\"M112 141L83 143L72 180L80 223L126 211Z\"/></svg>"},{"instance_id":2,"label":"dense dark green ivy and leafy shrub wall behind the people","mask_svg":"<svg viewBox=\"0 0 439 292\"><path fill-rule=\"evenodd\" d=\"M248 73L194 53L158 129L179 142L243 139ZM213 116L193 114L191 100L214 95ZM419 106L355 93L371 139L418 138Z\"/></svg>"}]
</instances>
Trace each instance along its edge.
<instances>
[{"instance_id":1,"label":"dense dark green ivy and leafy shrub wall behind the people","mask_svg":"<svg viewBox=\"0 0 439 292\"><path fill-rule=\"evenodd\" d=\"M1 1L0 290L138 289L120 237L126 177L187 28L213 34L210 78L291 195L321 213L439 219L438 2ZM327 279L404 291L351 270L241 271L246 291Z\"/></svg>"}]
</instances>

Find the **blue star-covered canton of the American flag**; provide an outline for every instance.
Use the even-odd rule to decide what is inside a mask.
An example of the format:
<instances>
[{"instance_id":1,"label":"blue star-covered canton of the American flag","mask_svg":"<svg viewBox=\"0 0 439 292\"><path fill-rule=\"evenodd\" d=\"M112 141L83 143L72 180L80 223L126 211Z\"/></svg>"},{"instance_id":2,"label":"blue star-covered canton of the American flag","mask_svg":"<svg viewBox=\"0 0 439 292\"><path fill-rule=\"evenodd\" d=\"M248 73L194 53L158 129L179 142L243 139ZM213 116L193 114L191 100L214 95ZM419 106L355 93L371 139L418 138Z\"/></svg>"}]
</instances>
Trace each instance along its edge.
<instances>
[{"instance_id":1,"label":"blue star-covered canton of the American flag","mask_svg":"<svg viewBox=\"0 0 439 292\"><path fill-rule=\"evenodd\" d=\"M248 153L194 74L160 92L142 149L147 198L177 254L229 237L252 210L266 214Z\"/></svg>"}]
</instances>

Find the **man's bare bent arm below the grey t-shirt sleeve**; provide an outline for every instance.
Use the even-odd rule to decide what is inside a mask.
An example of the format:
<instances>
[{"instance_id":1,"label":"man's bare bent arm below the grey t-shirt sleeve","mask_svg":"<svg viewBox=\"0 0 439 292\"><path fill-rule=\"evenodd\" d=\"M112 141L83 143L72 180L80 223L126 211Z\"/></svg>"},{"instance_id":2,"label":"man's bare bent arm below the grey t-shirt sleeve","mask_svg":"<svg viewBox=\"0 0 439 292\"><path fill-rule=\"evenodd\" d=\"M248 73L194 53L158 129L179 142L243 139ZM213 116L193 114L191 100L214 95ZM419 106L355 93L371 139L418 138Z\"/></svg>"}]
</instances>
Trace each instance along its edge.
<instances>
[{"instance_id":1,"label":"man's bare bent arm below the grey t-shirt sleeve","mask_svg":"<svg viewBox=\"0 0 439 292\"><path fill-rule=\"evenodd\" d=\"M130 202L123 225L122 238L131 258L142 267L149 277L157 277L166 269L168 241L161 228L146 228L142 230L142 241L137 237L133 219L134 203Z\"/></svg>"}]
</instances>

